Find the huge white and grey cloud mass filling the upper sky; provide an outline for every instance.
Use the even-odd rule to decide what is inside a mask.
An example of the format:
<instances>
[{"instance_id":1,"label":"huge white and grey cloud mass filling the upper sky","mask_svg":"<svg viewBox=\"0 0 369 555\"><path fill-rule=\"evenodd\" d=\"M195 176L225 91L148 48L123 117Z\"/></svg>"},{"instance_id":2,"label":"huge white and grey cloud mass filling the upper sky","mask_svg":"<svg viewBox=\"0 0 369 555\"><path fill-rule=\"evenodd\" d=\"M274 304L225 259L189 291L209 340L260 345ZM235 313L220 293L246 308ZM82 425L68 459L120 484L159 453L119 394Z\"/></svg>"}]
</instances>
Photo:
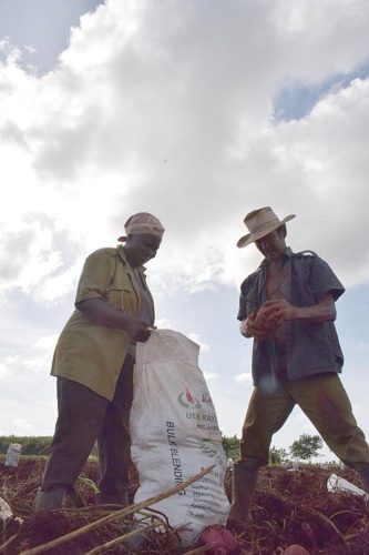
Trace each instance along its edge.
<instances>
[{"instance_id":1,"label":"huge white and grey cloud mass filling the upper sky","mask_svg":"<svg viewBox=\"0 0 369 555\"><path fill-rule=\"evenodd\" d=\"M368 283L369 248L356 240L368 79L338 82L298 121L274 118L289 80L319 85L368 62L368 22L365 0L107 0L47 75L2 43L2 289L59 302L83 258L139 210L166 228L155 294L238 284L259 260L235 246L243 218L265 204L298 214L294 248L326 256L348 285Z\"/></svg>"}]
</instances>

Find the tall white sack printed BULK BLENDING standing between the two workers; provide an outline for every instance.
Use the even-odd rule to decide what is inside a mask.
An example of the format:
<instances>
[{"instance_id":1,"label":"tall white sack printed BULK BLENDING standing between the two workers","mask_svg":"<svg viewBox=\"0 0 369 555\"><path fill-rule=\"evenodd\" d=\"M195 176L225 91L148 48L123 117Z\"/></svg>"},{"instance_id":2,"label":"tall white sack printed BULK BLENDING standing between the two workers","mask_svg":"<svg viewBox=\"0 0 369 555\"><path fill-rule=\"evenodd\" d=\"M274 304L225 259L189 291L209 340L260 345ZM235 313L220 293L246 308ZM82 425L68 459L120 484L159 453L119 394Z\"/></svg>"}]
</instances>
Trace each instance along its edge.
<instances>
[{"instance_id":1,"label":"tall white sack printed BULK BLENDING standing between the two workers","mask_svg":"<svg viewBox=\"0 0 369 555\"><path fill-rule=\"evenodd\" d=\"M153 505L173 527L188 526L181 533L184 544L193 543L204 526L225 524L229 512L227 460L198 351L172 330L155 330L139 343L131 411L131 455L141 484L135 503L216 465L185 491Z\"/></svg>"}]
</instances>

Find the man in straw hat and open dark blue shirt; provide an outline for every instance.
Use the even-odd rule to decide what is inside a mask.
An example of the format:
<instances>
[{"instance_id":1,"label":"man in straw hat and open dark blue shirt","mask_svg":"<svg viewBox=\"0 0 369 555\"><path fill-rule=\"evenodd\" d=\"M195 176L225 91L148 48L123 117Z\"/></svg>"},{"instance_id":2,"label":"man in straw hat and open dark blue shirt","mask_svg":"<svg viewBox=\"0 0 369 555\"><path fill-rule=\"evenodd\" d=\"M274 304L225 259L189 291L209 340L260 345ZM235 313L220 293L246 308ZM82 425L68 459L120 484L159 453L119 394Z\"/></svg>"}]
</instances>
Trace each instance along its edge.
<instances>
[{"instance_id":1,"label":"man in straw hat and open dark blue shirt","mask_svg":"<svg viewBox=\"0 0 369 555\"><path fill-rule=\"evenodd\" d=\"M329 448L361 476L369 493L369 447L357 426L338 374L344 356L334 321L335 301L345 289L311 251L286 246L286 222L270 206L248 213L249 233L237 246L255 243L265 256L240 286L238 320L254 337L254 392L234 468L228 523L247 523L258 468L268 464L273 434L295 404L310 418Z\"/></svg>"}]
</instances>

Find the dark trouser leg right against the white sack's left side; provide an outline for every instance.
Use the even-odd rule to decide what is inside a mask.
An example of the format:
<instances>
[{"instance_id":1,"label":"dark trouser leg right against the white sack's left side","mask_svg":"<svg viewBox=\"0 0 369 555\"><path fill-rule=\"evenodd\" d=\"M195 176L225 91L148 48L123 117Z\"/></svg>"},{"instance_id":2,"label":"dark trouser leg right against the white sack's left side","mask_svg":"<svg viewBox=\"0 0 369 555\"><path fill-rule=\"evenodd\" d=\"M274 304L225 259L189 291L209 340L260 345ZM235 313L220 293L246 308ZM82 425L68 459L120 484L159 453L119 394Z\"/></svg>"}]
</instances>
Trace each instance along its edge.
<instances>
[{"instance_id":1,"label":"dark trouser leg right against the white sack's left side","mask_svg":"<svg viewBox=\"0 0 369 555\"><path fill-rule=\"evenodd\" d=\"M129 468L131 464L130 411L133 398L134 359L126 355L115 387L113 400L106 408L99 433L99 458L103 503L127 501Z\"/></svg>"}]
</instances>

